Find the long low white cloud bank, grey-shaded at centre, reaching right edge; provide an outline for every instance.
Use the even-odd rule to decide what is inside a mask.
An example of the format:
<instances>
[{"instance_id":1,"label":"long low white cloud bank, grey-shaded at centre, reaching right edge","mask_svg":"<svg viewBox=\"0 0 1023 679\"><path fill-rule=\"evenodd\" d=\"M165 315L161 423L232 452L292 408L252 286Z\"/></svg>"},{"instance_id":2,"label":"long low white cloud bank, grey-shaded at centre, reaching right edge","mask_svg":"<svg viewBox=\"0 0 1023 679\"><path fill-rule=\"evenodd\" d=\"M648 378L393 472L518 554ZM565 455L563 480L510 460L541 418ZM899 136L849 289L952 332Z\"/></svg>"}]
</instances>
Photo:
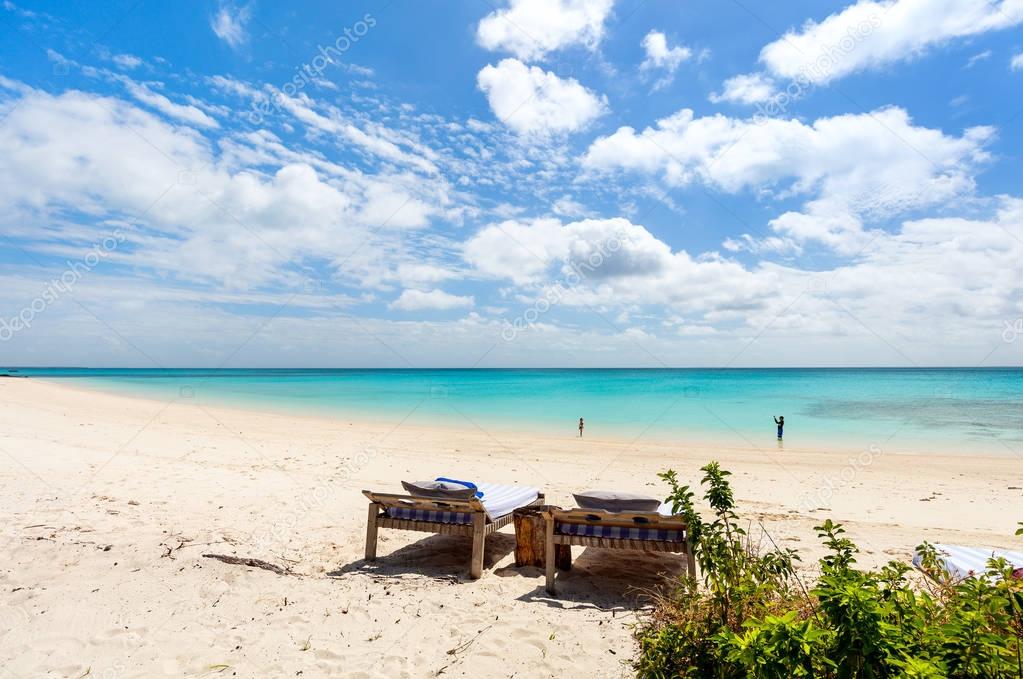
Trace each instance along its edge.
<instances>
[{"instance_id":1,"label":"long low white cloud bank, grey-shaded at centre, reaching right edge","mask_svg":"<svg viewBox=\"0 0 1023 679\"><path fill-rule=\"evenodd\" d=\"M676 336L738 343L722 361L739 352L747 365L834 364L853 352L854 362L868 365L976 365L1005 345L1006 319L1023 316L1023 200L1000 203L990 219L905 222L877 234L855 261L819 271L694 258L621 219L492 225L470 239L466 260L511 281L523 308L553 300L547 334L558 329L557 307L587 307L629 323L641 314L616 310L651 306L661 308ZM608 248L611 239L619 244ZM602 250L604 259L591 259ZM589 262L596 264L581 266ZM570 278L570 271L580 275ZM516 313L514 306L507 312ZM644 348L664 347L651 327L642 329Z\"/></svg>"}]
</instances>

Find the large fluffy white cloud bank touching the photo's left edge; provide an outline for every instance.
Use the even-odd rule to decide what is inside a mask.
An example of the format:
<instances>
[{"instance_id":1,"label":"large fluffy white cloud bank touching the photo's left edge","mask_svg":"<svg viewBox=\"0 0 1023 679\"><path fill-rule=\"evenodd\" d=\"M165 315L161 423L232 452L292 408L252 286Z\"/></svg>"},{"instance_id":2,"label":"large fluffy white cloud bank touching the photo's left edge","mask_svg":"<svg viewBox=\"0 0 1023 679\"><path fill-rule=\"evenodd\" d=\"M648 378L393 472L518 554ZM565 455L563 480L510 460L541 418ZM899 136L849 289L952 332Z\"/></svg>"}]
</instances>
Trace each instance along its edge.
<instances>
[{"instance_id":1,"label":"large fluffy white cloud bank touching the photo's left edge","mask_svg":"<svg viewBox=\"0 0 1023 679\"><path fill-rule=\"evenodd\" d=\"M277 159L268 155L275 142L258 135L248 141L262 144L262 169L232 168L195 130L114 97L25 88L0 106L0 200L9 207L0 228L33 234L32 247L120 226L128 243L112 262L180 279L301 286L309 275L300 265L315 261L372 286L393 278L384 253L398 246L382 225L418 228L443 210L443 194L415 177L367 176L286 149ZM88 226L70 230L70 212L89 215Z\"/></svg>"}]
</instances>

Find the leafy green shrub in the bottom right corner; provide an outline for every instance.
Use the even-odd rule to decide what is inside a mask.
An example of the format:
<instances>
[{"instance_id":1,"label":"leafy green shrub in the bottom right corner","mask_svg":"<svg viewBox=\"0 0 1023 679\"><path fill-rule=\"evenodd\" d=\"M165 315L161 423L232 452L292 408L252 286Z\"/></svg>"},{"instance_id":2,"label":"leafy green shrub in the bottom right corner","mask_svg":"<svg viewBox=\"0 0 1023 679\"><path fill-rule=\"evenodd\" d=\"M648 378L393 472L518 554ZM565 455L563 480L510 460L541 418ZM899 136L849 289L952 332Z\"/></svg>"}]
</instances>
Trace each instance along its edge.
<instances>
[{"instance_id":1,"label":"leafy green shrub in the bottom right corner","mask_svg":"<svg viewBox=\"0 0 1023 679\"><path fill-rule=\"evenodd\" d=\"M702 471L709 522L674 471L660 474L690 524L701 581L673 581L637 626L637 676L1023 679L1023 581L1009 563L989 562L1000 578L952 582L925 543L930 579L915 584L898 561L857 569L856 546L829 519L816 527L828 554L808 588L794 551L761 552L740 526L729 473L716 462Z\"/></svg>"}]
</instances>

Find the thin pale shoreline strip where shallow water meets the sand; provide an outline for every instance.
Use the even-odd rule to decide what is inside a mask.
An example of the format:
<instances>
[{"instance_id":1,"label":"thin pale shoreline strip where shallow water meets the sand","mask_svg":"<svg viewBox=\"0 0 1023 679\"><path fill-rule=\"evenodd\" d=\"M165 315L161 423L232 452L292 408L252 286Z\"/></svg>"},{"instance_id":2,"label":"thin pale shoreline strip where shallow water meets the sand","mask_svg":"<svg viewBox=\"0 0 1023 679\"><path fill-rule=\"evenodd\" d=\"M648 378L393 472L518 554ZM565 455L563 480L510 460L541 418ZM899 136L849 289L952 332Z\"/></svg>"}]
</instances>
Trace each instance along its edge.
<instances>
[{"instance_id":1,"label":"thin pale shoreline strip where shallow water meets the sand","mask_svg":"<svg viewBox=\"0 0 1023 679\"><path fill-rule=\"evenodd\" d=\"M449 419L438 419L430 422L429 424L424 424L421 422L407 422L411 416L415 414L415 409L405 414L404 417L388 417L384 413L381 413L379 417L372 416L366 412L339 412L337 414L331 414L326 411L319 411L315 408L311 408L310 412L299 412L299 408L290 407L281 405L279 407L274 407L274 405L269 403L241 403L241 399L238 402L230 402L229 400L219 400L212 399L209 401L201 401L191 398L175 398L175 399L161 399L153 395L131 393L128 389L104 389L96 384L72 384L71 381L77 378L69 377L40 377L40 376L29 376L29 375L10 375L12 377L18 376L25 379L32 379L34 381L42 381L54 387L61 389L68 389L82 393L83 395L88 394L103 394L114 398L123 398L128 400L141 400L148 401L151 403L180 403L186 405L188 403L201 404L204 407L210 407L215 409L224 409L230 411L236 411L240 413L261 413L265 415L275 415L284 417L294 417L302 420L312 420L315 422L326 422L326 421L341 421L344 420L348 423L364 424L366 426L372 427L388 427L395 424L400 424L406 427L418 427L427 432L445 432L449 435L457 435L460 432L465 431L482 431L489 432L494 436L499 436L500 438L508 437L536 437L549 439L551 441L565 441L565 440L575 440L576 437L573 434L560 435L552 427L535 426L533 428L528 428L522 426L526 422L511 423L510 421L503 421L499 423L494 423L493 421L487 421L486 425L480 424L477 420L470 418L464 413L458 411L461 418L465 420L464 424L455 423L454 417ZM424 399L426 400L426 399ZM655 420L656 422L656 420ZM652 422L646 426L646 428L640 428L638 436L624 436L621 434L616 434L615 432L601 433L597 435L592 434L595 425L593 425L590 420L587 420L587 434L584 437L585 441L604 443L613 446L631 446L631 445L656 445L656 446L683 446L683 447L698 447L704 449L714 449L714 450L727 450L733 452L740 451L757 451L764 455L782 454L782 453L801 453L801 454L829 454L829 455L860 455L860 454L879 454L878 449L883 451L883 454L889 455L899 455L899 456L916 456L916 457L959 457L959 458L969 458L974 460L982 460L985 458L995 458L1005 459L1013 458L1019 456L1018 453L1013 451L1008 445L998 445L994 442L984 442L980 444L979 442L971 442L968 445L975 446L976 452L962 452L964 445L962 442L952 442L947 445L947 447L942 447L939 445L931 444L917 444L917 445L886 445L887 442L878 443L877 441L863 444L863 445L845 445L843 446L841 442L836 443L835 441L825 441L824 439L815 439L812 437L800 437L799 444L792 444L789 442L784 443L784 445L779 445L776 440L772 437L765 437L764 440L757 442L751 441L744 434L733 431L731 436L725 436L718 433L714 436L712 433L707 431L693 432L687 429L682 429L679 432L652 432ZM598 425L597 425L598 426ZM640 424L636 425L637 428L641 427ZM570 429L571 427L566 427ZM773 425L765 426L765 431L772 431ZM895 427L897 433L898 426ZM789 441L796 439L797 436L791 436ZM893 436L893 435L892 435ZM886 437L878 437L878 441L883 441ZM891 438L890 436L888 438ZM737 443L737 440L741 440ZM873 451L873 452L872 452Z\"/></svg>"}]
</instances>

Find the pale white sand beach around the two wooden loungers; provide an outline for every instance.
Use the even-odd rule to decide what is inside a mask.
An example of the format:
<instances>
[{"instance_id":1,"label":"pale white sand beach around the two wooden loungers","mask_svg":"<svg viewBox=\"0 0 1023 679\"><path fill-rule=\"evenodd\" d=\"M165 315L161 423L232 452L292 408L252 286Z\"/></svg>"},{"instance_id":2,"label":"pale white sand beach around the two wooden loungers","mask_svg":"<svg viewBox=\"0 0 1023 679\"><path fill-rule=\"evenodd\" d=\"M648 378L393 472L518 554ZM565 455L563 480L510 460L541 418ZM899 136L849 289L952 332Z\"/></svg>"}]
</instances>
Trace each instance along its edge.
<instances>
[{"instance_id":1,"label":"pale white sand beach around the two wooden loungers","mask_svg":"<svg viewBox=\"0 0 1023 679\"><path fill-rule=\"evenodd\" d=\"M362 489L454 476L663 495L717 459L744 516L811 560L845 524L860 562L922 540L1020 548L1020 460L884 450L712 449L425 428L148 401L0 380L0 677L618 677L634 588L680 557L575 548L559 595L516 569L514 532L468 579L462 538L383 531ZM254 557L293 575L204 553Z\"/></svg>"}]
</instances>

